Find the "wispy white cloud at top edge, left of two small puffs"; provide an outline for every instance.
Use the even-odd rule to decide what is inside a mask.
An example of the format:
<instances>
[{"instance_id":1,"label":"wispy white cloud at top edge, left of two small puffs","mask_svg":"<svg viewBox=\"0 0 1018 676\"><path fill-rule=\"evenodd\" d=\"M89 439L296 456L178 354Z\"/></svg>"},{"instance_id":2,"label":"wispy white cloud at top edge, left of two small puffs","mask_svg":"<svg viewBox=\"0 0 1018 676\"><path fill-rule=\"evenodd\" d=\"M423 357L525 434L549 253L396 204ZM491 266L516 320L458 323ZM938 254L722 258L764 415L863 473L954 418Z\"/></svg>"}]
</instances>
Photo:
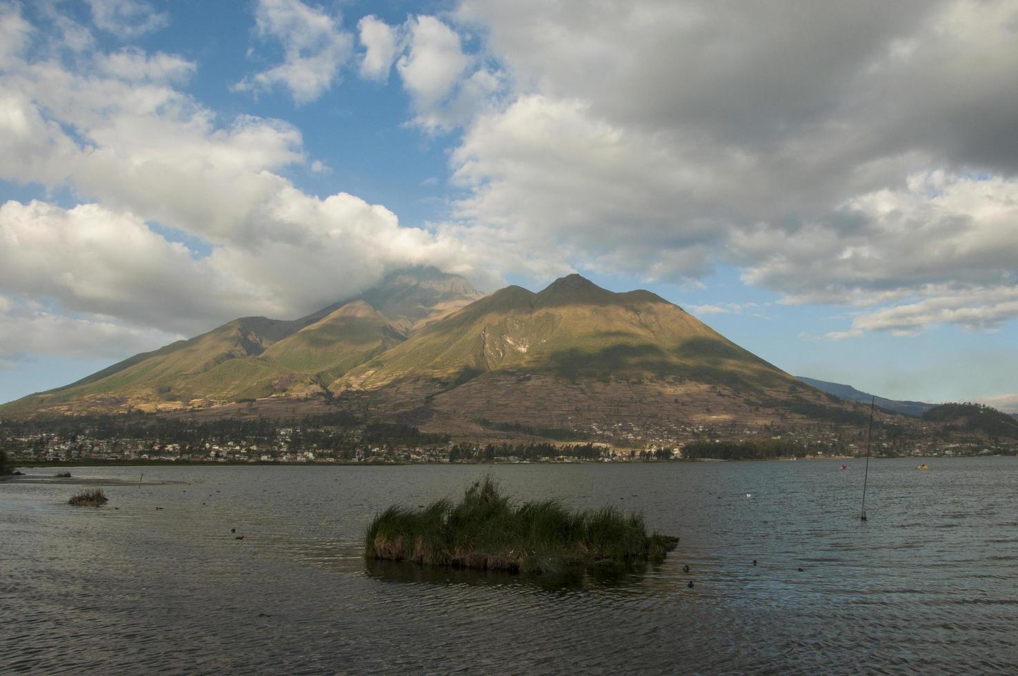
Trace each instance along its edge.
<instances>
[{"instance_id":1,"label":"wispy white cloud at top edge, left of two small puffs","mask_svg":"<svg viewBox=\"0 0 1018 676\"><path fill-rule=\"evenodd\" d=\"M322 96L352 54L353 39L338 18L300 0L259 0L256 26L263 39L278 40L284 58L279 65L233 86L235 91L263 92L282 84L300 105Z\"/></svg>"}]
</instances>

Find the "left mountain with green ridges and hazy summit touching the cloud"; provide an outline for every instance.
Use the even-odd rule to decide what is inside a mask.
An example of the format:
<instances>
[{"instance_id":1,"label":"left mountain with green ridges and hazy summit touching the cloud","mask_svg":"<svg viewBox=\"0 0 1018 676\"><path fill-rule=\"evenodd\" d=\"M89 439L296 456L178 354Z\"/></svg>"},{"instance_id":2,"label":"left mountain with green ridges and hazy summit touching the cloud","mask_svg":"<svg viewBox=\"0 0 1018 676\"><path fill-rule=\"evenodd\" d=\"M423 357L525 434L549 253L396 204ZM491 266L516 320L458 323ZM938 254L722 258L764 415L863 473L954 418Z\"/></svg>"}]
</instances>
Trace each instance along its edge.
<instances>
[{"instance_id":1,"label":"left mountain with green ridges and hazy summit touching the cloud","mask_svg":"<svg viewBox=\"0 0 1018 676\"><path fill-rule=\"evenodd\" d=\"M0 413L167 410L321 392L350 368L480 297L463 277L396 271L306 317L246 317L88 378L0 406Z\"/></svg>"}]
</instances>

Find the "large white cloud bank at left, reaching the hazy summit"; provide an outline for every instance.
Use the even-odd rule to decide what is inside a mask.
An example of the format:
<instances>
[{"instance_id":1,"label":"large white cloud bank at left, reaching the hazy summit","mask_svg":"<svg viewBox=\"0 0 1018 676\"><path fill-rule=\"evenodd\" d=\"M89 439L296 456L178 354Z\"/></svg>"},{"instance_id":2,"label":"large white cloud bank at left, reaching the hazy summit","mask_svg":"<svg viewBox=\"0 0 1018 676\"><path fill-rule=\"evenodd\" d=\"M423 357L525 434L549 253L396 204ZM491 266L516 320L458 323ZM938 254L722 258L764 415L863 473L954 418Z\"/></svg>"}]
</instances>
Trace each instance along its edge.
<instances>
[{"instance_id":1,"label":"large white cloud bank at left, reaching the hazy summit","mask_svg":"<svg viewBox=\"0 0 1018 676\"><path fill-rule=\"evenodd\" d=\"M283 173L307 162L299 131L221 120L174 89L189 62L131 50L88 63L104 67L22 54L0 70L0 178L83 201L0 207L0 294L46 299L47 317L167 336L238 315L299 316L405 265L476 265L462 242L382 206L295 187ZM203 254L167 238L181 235ZM58 326L19 317L25 330Z\"/></svg>"}]
</instances>

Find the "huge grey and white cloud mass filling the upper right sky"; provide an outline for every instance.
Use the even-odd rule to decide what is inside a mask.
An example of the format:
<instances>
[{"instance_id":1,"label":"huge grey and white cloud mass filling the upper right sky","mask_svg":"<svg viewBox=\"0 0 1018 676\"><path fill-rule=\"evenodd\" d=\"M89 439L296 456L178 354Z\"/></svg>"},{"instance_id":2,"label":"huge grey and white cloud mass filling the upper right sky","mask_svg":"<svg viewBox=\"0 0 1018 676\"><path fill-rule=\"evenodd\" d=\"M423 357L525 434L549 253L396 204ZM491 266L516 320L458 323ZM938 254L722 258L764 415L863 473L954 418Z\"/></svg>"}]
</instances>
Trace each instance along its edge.
<instances>
[{"instance_id":1,"label":"huge grey and white cloud mass filling the upper right sky","mask_svg":"<svg viewBox=\"0 0 1018 676\"><path fill-rule=\"evenodd\" d=\"M464 230L535 242L548 268L688 282L724 262L786 302L876 307L844 336L1016 316L979 300L1018 285L1014 2L453 16L511 88L452 155Z\"/></svg>"}]
</instances>

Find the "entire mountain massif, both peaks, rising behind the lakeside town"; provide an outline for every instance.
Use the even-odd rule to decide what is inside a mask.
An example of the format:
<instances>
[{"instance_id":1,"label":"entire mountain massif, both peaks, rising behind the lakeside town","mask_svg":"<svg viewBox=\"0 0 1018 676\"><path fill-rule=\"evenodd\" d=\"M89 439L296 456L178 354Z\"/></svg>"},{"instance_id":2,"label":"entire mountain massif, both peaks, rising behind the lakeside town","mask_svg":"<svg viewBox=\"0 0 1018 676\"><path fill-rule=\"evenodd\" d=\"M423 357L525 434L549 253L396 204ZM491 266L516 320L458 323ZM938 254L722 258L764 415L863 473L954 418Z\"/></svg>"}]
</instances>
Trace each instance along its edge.
<instances>
[{"instance_id":1,"label":"entire mountain massif, both peaks, rising behind the lakeside town","mask_svg":"<svg viewBox=\"0 0 1018 676\"><path fill-rule=\"evenodd\" d=\"M854 445L868 407L795 379L649 291L579 275L482 295L400 270L292 321L248 317L0 406L2 417L348 412L472 440ZM879 408L879 425L918 420Z\"/></svg>"}]
</instances>

